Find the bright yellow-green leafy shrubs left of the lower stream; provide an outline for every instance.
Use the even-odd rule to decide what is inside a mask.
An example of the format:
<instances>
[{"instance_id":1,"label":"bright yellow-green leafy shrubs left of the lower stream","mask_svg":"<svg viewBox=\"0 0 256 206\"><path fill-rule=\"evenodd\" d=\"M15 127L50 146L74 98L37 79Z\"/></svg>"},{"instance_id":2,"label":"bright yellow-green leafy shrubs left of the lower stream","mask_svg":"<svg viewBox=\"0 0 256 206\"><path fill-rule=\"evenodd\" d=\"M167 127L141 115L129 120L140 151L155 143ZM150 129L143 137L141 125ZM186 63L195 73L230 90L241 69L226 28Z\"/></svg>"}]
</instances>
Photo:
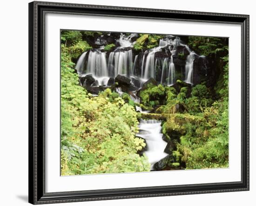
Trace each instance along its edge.
<instances>
[{"instance_id":1,"label":"bright yellow-green leafy shrubs left of the lower stream","mask_svg":"<svg viewBox=\"0 0 256 206\"><path fill-rule=\"evenodd\" d=\"M88 94L74 73L72 46L61 44L61 175L149 171L137 155L145 142L135 137L134 107L110 89Z\"/></svg>"}]
</instances>

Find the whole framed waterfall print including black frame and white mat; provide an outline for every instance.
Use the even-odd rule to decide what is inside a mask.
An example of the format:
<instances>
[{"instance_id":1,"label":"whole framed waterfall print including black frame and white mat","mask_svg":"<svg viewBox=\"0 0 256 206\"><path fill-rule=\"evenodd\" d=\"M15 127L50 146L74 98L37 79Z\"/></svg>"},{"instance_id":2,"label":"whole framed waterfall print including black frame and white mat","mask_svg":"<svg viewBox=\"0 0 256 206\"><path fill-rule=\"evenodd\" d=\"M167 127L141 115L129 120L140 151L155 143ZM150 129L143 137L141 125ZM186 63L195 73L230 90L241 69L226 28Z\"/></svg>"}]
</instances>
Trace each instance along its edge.
<instances>
[{"instance_id":1,"label":"whole framed waterfall print including black frame and white mat","mask_svg":"<svg viewBox=\"0 0 256 206\"><path fill-rule=\"evenodd\" d=\"M249 16L29 3L29 202L249 190Z\"/></svg>"}]
</instances>

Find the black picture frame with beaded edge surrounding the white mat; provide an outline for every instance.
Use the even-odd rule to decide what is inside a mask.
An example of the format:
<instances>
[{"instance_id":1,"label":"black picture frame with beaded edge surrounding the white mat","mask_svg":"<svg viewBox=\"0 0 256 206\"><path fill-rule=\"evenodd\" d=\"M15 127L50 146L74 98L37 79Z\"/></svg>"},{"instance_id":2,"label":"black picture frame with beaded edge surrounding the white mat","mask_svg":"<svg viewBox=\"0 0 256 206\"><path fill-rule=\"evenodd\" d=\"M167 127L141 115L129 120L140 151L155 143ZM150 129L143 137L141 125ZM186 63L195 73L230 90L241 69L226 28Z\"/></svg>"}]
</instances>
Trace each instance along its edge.
<instances>
[{"instance_id":1,"label":"black picture frame with beaded edge surrounding the white mat","mask_svg":"<svg viewBox=\"0 0 256 206\"><path fill-rule=\"evenodd\" d=\"M249 15L34 1L29 3L29 202L111 200L249 190ZM45 192L45 13L239 24L242 31L241 181L90 191Z\"/></svg>"}]
</instances>

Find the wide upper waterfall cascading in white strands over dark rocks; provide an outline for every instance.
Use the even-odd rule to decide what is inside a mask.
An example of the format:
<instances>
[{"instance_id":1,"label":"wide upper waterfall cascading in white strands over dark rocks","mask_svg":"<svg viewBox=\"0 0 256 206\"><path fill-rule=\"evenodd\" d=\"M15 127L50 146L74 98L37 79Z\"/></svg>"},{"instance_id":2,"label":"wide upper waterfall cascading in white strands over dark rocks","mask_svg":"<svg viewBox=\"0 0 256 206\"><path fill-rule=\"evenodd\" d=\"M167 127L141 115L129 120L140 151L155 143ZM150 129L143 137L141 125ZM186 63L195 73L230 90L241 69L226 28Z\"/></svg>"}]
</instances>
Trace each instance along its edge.
<instances>
[{"instance_id":1,"label":"wide upper waterfall cascading in white strands over dark rocks","mask_svg":"<svg viewBox=\"0 0 256 206\"><path fill-rule=\"evenodd\" d=\"M175 74L180 72L180 76L185 82L193 84L193 62L195 52L189 49L179 37L166 36L159 40L159 46L133 54L133 44L131 39L137 34L126 36L120 34L116 40L120 47L116 47L112 52L105 52L103 49L93 49L82 53L76 64L78 75L83 77L92 74L98 84L107 85L110 77L115 78L117 75L124 75L131 78L132 84L141 87L150 77L155 78L158 83L171 86L175 84ZM97 39L97 44L106 45L103 37ZM99 47L103 47L99 45ZM185 74L180 67L175 67L174 56L177 58L181 47L190 53L187 56L185 64ZM198 56L198 55L197 55ZM179 60L180 61L180 60ZM184 77L185 75L185 77Z\"/></svg>"}]
</instances>

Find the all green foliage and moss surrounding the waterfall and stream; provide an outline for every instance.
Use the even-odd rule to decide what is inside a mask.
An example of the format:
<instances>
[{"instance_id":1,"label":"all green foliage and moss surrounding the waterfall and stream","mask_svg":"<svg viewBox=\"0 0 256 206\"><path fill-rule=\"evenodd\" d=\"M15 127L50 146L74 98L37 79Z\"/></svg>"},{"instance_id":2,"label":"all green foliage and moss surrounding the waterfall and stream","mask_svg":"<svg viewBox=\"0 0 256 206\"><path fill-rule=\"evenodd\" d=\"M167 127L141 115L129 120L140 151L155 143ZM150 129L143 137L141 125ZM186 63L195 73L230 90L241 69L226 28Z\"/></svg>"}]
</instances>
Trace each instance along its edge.
<instances>
[{"instance_id":1,"label":"all green foliage and moss surrounding the waterfall and stream","mask_svg":"<svg viewBox=\"0 0 256 206\"><path fill-rule=\"evenodd\" d=\"M106 89L92 97L79 85L74 63L92 47L89 39L102 32L61 31L61 174L149 171L146 145L137 138L138 119L163 119L162 133L171 142L168 167L187 169L228 167L228 44L223 38L189 37L198 54L220 57L221 75L214 88L177 80L174 87L149 84L139 92L141 104L129 94ZM137 51L158 46L160 35L140 34ZM87 42L88 39L88 42ZM114 44L106 45L111 51ZM179 58L185 58L183 53ZM137 113L135 105L152 113Z\"/></svg>"}]
</instances>

